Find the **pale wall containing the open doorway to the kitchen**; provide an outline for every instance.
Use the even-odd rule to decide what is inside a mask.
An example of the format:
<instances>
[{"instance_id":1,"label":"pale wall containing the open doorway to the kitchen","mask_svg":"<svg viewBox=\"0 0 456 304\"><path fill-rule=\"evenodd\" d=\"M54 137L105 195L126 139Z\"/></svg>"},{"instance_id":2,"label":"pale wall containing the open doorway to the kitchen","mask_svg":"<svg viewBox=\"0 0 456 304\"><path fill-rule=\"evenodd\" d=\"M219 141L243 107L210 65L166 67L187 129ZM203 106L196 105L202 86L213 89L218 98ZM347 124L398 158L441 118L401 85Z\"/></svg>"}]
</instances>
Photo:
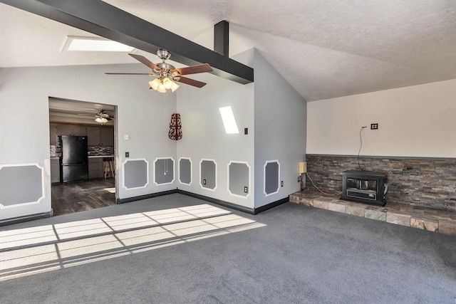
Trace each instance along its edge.
<instances>
[{"instance_id":1,"label":"pale wall containing the open doorway to the kitchen","mask_svg":"<svg viewBox=\"0 0 456 304\"><path fill-rule=\"evenodd\" d=\"M118 181L123 176L125 152L130 152L130 159L145 158L150 162L147 187L129 191L118 187L118 197L175 189L175 184L155 186L152 172L156 157L176 159L176 143L167 138L176 95L170 94L164 100L164 95L149 90L145 77L104 74L142 69L139 64L0 68L0 164L37 163L46 168L46 197L40 204L1 209L0 219L51 210L49 96L118 106ZM123 140L126 134L130 140Z\"/></svg>"}]
</instances>

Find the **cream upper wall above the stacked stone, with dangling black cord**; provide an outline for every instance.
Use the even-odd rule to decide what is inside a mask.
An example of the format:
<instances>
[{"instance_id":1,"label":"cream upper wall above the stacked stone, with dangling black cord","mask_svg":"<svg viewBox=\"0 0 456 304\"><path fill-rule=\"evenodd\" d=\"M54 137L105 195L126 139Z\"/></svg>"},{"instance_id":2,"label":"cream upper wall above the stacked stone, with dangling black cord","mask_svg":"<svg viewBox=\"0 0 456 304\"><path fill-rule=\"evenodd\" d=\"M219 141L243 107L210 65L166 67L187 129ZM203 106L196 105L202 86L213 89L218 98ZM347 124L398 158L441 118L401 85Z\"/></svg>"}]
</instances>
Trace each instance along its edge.
<instances>
[{"instance_id":1,"label":"cream upper wall above the stacked stone, with dangling black cord","mask_svg":"<svg viewBox=\"0 0 456 304\"><path fill-rule=\"evenodd\" d=\"M308 103L307 154L456 157L456 80ZM371 130L378 123L378 130Z\"/></svg>"}]
</instances>

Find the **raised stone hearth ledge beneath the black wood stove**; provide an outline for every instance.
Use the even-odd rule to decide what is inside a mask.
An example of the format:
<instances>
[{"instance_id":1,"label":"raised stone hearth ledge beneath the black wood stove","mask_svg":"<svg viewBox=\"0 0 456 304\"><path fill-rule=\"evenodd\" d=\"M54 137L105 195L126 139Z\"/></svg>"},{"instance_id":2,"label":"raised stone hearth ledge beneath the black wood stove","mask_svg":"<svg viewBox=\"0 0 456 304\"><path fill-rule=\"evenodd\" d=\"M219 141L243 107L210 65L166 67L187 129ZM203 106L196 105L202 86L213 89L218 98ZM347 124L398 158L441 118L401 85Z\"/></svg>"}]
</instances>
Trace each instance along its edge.
<instances>
[{"instance_id":1,"label":"raised stone hearth ledge beneath the black wood stove","mask_svg":"<svg viewBox=\"0 0 456 304\"><path fill-rule=\"evenodd\" d=\"M374 206L343 201L336 195L309 191L296 192L289 197L289 201L296 204L456 236L456 211L430 209L395 202L390 202L386 206Z\"/></svg>"}]
</instances>

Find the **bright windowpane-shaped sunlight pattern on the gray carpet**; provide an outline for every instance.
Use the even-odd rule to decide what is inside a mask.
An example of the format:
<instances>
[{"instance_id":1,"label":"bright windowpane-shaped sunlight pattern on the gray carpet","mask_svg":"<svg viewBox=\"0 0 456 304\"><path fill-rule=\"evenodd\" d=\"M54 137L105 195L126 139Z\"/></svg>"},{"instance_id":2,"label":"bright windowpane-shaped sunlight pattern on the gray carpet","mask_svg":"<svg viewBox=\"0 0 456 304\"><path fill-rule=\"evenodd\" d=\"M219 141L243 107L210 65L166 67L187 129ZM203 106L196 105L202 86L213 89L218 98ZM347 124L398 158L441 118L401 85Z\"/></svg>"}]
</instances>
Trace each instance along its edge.
<instances>
[{"instance_id":1,"label":"bright windowpane-shaped sunlight pattern on the gray carpet","mask_svg":"<svg viewBox=\"0 0 456 304\"><path fill-rule=\"evenodd\" d=\"M0 281L262 226L200 204L0 231Z\"/></svg>"}]
</instances>

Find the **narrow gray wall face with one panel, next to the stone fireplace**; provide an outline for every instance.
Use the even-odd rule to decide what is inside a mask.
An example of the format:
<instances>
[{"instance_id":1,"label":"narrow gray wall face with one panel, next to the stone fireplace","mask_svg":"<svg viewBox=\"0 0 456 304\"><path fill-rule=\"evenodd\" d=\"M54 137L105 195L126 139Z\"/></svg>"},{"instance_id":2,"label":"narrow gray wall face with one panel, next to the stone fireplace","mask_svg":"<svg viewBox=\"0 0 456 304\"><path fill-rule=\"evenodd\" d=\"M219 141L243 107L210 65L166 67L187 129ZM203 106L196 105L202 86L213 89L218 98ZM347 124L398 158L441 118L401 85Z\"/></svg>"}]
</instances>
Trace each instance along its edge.
<instances>
[{"instance_id":1,"label":"narrow gray wall face with one panel, next to the stone fireplace","mask_svg":"<svg viewBox=\"0 0 456 304\"><path fill-rule=\"evenodd\" d=\"M299 162L306 157L306 101L258 51L255 78L255 208L299 191ZM264 164L279 160L284 187L264 194Z\"/></svg>"}]
</instances>

